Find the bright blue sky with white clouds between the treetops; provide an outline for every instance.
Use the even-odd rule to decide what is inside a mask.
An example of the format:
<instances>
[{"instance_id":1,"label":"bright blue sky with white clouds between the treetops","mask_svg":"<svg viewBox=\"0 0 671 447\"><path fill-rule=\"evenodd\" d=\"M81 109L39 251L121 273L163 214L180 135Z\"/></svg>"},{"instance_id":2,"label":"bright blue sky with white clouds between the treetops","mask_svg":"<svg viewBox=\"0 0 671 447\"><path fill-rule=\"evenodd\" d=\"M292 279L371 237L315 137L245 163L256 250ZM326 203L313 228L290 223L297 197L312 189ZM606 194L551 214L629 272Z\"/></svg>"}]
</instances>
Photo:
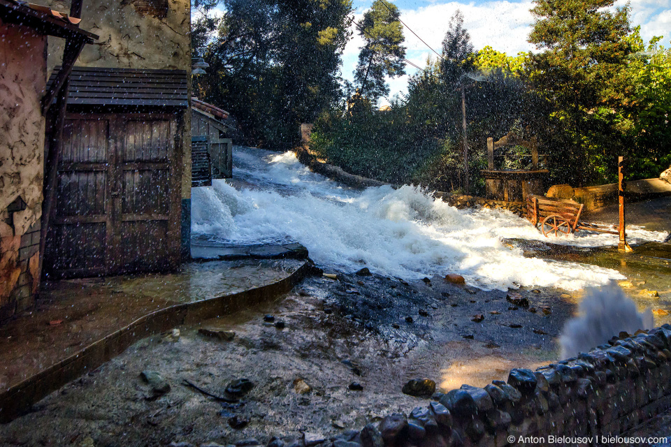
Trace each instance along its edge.
<instances>
[{"instance_id":1,"label":"bright blue sky with white clouds between the treetops","mask_svg":"<svg viewBox=\"0 0 671 447\"><path fill-rule=\"evenodd\" d=\"M464 25L476 49L490 45L495 50L517 54L520 51L535 50L526 41L531 30L533 18L529 10L533 6L528 0L498 1L424 1L424 0L391 0L401 9L401 20L407 24L434 50L440 52L440 43L445 36L449 18L454 11L461 10ZM356 20L370 8L373 0L354 0ZM626 1L616 1L616 6L624 6ZM671 0L630 0L631 22L633 26L641 25L644 40L652 36L664 36L663 45L670 47L671 40ZM353 28L354 36L345 48L342 57L342 76L352 80L352 72L356 67L359 48L363 41ZM423 67L427 57L435 54L424 43L404 29L406 59ZM389 80L391 94L405 93L407 78L416 71L412 66L406 67L407 75ZM382 99L381 104L387 103Z\"/></svg>"}]
</instances>

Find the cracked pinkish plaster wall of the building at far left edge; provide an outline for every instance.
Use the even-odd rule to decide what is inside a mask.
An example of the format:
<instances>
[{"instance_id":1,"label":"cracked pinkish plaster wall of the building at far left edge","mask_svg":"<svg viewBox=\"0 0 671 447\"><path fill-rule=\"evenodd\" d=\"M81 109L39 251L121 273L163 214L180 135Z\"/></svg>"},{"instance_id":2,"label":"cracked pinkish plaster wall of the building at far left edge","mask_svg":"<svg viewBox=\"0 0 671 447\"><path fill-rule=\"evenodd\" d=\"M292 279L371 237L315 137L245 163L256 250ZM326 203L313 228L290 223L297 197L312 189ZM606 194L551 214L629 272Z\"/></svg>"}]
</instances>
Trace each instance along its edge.
<instances>
[{"instance_id":1,"label":"cracked pinkish plaster wall of the building at far left edge","mask_svg":"<svg viewBox=\"0 0 671 447\"><path fill-rule=\"evenodd\" d=\"M45 45L31 29L0 22L0 321L29 307L38 284Z\"/></svg>"}]
</instances>

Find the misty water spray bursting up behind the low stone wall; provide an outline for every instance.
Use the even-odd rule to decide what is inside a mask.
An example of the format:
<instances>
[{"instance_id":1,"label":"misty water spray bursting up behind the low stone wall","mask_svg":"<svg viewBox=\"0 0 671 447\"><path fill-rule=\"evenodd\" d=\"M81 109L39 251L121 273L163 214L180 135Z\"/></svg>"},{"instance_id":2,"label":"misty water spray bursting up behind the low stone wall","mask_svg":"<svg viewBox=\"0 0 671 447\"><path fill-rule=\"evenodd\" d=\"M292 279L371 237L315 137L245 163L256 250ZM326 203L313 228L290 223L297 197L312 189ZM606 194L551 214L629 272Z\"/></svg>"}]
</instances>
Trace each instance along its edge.
<instances>
[{"instance_id":1,"label":"misty water spray bursting up behind the low stone wall","mask_svg":"<svg viewBox=\"0 0 671 447\"><path fill-rule=\"evenodd\" d=\"M639 313L633 300L614 281L603 287L587 288L578 310L580 315L570 319L562 330L561 358L591 351L621 331L633 334L654 327L651 310Z\"/></svg>"}]
</instances>

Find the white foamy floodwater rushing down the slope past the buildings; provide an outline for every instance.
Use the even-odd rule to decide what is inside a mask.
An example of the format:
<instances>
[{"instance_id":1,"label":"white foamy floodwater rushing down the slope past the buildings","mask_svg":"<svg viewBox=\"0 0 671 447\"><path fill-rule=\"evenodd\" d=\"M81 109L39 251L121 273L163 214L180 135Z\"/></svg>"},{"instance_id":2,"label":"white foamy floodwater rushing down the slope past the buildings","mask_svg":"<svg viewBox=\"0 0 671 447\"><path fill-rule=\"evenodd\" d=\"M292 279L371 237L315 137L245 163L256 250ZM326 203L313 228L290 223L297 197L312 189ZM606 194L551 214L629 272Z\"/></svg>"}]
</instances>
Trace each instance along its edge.
<instances>
[{"instance_id":1,"label":"white foamy floodwater rushing down the slope past the buildings","mask_svg":"<svg viewBox=\"0 0 671 447\"><path fill-rule=\"evenodd\" d=\"M295 240L322 268L417 279L459 273L468 284L506 290L556 286L575 290L621 279L615 270L525 258L504 237L545 240L511 212L457 210L414 186L348 189L310 172L296 156L235 147L233 177L192 190L192 232L230 244ZM628 229L628 237L666 233ZM582 233L552 242L616 244L615 235Z\"/></svg>"}]
</instances>

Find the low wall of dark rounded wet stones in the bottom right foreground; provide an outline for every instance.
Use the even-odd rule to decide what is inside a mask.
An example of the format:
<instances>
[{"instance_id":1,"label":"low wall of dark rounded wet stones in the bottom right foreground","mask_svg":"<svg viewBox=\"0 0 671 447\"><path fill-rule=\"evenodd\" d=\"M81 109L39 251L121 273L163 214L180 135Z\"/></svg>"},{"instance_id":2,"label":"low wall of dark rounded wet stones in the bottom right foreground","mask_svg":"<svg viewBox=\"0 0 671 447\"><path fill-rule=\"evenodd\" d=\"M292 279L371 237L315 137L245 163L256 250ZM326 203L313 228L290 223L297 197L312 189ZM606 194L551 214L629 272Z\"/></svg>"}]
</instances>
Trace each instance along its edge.
<instances>
[{"instance_id":1,"label":"low wall of dark rounded wet stones in the bottom right foreground","mask_svg":"<svg viewBox=\"0 0 671 447\"><path fill-rule=\"evenodd\" d=\"M434 393L426 406L407 415L389 415L327 442L333 447L626 444L613 437L671 406L671 325L620 335L578 358L535 371L512 369L506 382Z\"/></svg>"}]
</instances>

